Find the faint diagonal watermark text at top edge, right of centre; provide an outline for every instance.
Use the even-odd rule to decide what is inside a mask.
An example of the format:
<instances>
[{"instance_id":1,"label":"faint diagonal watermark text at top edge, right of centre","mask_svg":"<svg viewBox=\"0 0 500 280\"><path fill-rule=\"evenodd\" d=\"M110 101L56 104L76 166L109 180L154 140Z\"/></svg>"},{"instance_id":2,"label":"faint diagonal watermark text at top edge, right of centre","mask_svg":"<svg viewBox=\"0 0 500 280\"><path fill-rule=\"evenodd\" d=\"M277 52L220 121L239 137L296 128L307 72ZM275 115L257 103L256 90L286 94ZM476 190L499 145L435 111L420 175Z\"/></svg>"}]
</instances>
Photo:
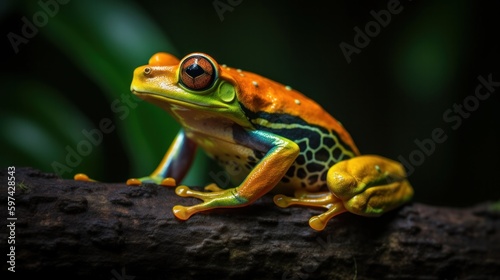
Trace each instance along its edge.
<instances>
[{"instance_id":1,"label":"faint diagonal watermark text at top edge, right of centre","mask_svg":"<svg viewBox=\"0 0 500 280\"><path fill-rule=\"evenodd\" d=\"M347 63L350 64L352 61L351 56L353 54L360 54L361 50L370 44L371 39L377 37L382 31L382 28L387 27L391 23L392 16L398 15L403 9L399 0L389 0L389 2L387 2L387 9L382 9L378 12L371 10L370 15L374 20L367 22L364 29L358 26L354 27L354 46L344 41L339 44L340 50Z\"/></svg>"}]
</instances>

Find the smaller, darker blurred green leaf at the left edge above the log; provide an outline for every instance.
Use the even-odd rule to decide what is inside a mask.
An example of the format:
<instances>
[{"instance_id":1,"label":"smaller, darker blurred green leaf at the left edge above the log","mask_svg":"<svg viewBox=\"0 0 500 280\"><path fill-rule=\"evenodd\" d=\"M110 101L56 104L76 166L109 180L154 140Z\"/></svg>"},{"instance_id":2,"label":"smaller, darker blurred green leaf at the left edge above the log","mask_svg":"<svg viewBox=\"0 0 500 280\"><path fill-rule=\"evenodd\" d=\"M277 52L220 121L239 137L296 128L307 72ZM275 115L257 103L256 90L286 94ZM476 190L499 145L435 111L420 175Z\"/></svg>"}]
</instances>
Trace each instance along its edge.
<instances>
[{"instance_id":1,"label":"smaller, darker blurred green leaf at the left edge above the log","mask_svg":"<svg viewBox=\"0 0 500 280\"><path fill-rule=\"evenodd\" d=\"M0 145L7 147L0 159L3 166L31 165L55 172L52 166L60 164L67 172L59 175L70 176L68 173L78 163L79 168L93 168L97 176L102 175L99 170L103 169L103 153L99 145L80 147L88 148L83 154L92 153L91 157L68 156L68 150L78 150L78 144L85 140L82 129L92 127L83 112L63 94L36 80L3 76L1 83L11 93L2 103L0 113L4 136Z\"/></svg>"}]
</instances>

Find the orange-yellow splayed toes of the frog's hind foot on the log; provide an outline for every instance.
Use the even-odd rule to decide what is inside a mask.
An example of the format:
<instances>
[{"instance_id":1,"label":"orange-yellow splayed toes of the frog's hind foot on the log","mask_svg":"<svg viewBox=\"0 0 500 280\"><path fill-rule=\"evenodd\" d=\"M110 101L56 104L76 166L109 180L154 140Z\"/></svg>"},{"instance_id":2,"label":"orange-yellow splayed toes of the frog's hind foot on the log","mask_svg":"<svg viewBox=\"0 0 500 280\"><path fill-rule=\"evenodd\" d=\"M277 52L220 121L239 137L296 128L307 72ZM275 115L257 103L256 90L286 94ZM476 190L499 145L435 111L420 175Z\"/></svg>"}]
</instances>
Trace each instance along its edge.
<instances>
[{"instance_id":1,"label":"orange-yellow splayed toes of the frog's hind foot on the log","mask_svg":"<svg viewBox=\"0 0 500 280\"><path fill-rule=\"evenodd\" d=\"M313 216L309 219L309 226L318 231L323 230L331 218L347 211L344 207L344 203L335 197L331 192L311 193L306 191L297 191L295 193L295 197L288 197L279 194L274 196L274 203L282 208L290 205L326 208L326 212L319 214L318 216Z\"/></svg>"}]
</instances>

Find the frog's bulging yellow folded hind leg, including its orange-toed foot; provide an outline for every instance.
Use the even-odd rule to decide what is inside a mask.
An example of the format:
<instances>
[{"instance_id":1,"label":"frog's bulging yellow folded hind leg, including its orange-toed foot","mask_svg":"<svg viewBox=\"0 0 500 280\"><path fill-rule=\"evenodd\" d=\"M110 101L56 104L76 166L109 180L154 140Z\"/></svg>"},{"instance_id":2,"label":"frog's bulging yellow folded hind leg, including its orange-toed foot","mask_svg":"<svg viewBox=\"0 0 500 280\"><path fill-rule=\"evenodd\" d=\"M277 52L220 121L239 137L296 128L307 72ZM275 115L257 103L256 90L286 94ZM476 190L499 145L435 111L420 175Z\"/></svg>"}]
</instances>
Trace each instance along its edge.
<instances>
[{"instance_id":1,"label":"frog's bulging yellow folded hind leg, including its orange-toed foot","mask_svg":"<svg viewBox=\"0 0 500 280\"><path fill-rule=\"evenodd\" d=\"M340 213L380 216L413 196L403 166L376 155L358 156L333 165L328 171L327 185L330 192L302 192L295 198L277 195L274 202L280 207L298 204L326 208L325 213L309 220L313 229L323 230Z\"/></svg>"}]
</instances>

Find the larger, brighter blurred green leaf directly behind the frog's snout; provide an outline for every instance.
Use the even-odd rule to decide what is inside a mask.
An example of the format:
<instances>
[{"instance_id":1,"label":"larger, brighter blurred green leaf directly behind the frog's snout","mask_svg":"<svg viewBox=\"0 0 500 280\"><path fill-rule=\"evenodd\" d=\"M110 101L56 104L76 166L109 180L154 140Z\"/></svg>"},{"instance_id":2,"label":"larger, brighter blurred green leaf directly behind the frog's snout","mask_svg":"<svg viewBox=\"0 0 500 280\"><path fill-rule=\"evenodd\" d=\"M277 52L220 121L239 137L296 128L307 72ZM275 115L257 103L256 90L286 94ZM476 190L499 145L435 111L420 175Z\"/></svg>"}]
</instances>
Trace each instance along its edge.
<instances>
[{"instance_id":1,"label":"larger, brighter blurred green leaf directly behind the frog's snout","mask_svg":"<svg viewBox=\"0 0 500 280\"><path fill-rule=\"evenodd\" d=\"M29 13L40 9L35 2L28 6ZM43 28L42 33L106 94L132 165L132 174L126 176L149 174L179 125L152 104L130 102L130 82L133 70L154 53L176 54L170 40L131 1L71 1L58 7Z\"/></svg>"}]
</instances>

